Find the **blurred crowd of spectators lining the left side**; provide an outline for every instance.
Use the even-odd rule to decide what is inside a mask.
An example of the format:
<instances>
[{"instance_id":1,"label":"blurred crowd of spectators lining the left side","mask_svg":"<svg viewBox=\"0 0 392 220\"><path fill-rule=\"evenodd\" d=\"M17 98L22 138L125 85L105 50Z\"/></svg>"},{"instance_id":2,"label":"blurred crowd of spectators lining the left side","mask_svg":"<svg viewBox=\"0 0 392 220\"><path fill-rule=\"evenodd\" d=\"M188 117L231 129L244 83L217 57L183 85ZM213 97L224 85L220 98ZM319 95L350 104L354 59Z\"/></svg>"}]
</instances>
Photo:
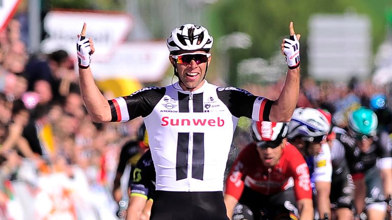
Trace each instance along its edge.
<instances>
[{"instance_id":1,"label":"blurred crowd of spectators lining the left side","mask_svg":"<svg viewBox=\"0 0 392 220\"><path fill-rule=\"evenodd\" d=\"M7 216L15 215L7 213L13 199L19 200L18 213L26 210L12 188L20 180L40 190L42 177L63 174L72 180L78 173L112 200L109 188L120 146L135 137L141 123L93 123L80 95L75 61L64 50L28 53L19 22L11 20L0 33L0 219L26 219ZM24 172L26 167L33 172ZM63 211L46 214L55 212Z\"/></svg>"}]
</instances>

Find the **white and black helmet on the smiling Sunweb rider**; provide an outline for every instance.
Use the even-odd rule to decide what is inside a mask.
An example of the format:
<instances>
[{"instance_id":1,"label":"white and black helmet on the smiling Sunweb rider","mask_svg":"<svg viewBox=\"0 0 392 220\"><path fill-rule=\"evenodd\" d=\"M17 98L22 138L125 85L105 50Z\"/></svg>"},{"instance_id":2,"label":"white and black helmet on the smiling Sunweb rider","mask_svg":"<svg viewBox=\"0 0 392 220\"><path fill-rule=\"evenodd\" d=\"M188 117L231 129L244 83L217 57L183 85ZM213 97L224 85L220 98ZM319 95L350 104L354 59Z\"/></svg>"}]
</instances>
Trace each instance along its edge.
<instances>
[{"instance_id":1,"label":"white and black helmet on the smiling Sunweb rider","mask_svg":"<svg viewBox=\"0 0 392 220\"><path fill-rule=\"evenodd\" d=\"M184 24L175 28L166 40L166 46L170 54L178 54L183 51L205 50L208 52L212 47L212 36L207 29L195 24Z\"/></svg>"}]
</instances>

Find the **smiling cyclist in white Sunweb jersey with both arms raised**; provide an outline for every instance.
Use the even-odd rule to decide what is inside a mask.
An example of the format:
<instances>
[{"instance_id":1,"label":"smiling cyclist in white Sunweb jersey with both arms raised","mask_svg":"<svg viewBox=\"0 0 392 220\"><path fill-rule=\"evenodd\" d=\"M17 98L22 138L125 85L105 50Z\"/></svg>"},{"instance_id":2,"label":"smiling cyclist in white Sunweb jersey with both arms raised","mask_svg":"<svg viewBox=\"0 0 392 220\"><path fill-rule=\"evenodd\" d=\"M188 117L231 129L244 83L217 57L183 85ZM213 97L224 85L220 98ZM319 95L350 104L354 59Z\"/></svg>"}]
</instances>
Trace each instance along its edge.
<instances>
[{"instance_id":1,"label":"smiling cyclist in white Sunweb jersey with both arms raised","mask_svg":"<svg viewBox=\"0 0 392 220\"><path fill-rule=\"evenodd\" d=\"M129 96L106 100L89 68L92 40L78 45L80 87L96 122L126 122L141 116L149 133L156 170L151 219L227 219L223 200L224 172L239 117L287 122L299 93L299 35L292 23L284 39L288 71L276 101L234 87L217 87L205 80L213 39L207 29L184 24L167 39L169 60L179 81L148 87Z\"/></svg>"}]
</instances>

